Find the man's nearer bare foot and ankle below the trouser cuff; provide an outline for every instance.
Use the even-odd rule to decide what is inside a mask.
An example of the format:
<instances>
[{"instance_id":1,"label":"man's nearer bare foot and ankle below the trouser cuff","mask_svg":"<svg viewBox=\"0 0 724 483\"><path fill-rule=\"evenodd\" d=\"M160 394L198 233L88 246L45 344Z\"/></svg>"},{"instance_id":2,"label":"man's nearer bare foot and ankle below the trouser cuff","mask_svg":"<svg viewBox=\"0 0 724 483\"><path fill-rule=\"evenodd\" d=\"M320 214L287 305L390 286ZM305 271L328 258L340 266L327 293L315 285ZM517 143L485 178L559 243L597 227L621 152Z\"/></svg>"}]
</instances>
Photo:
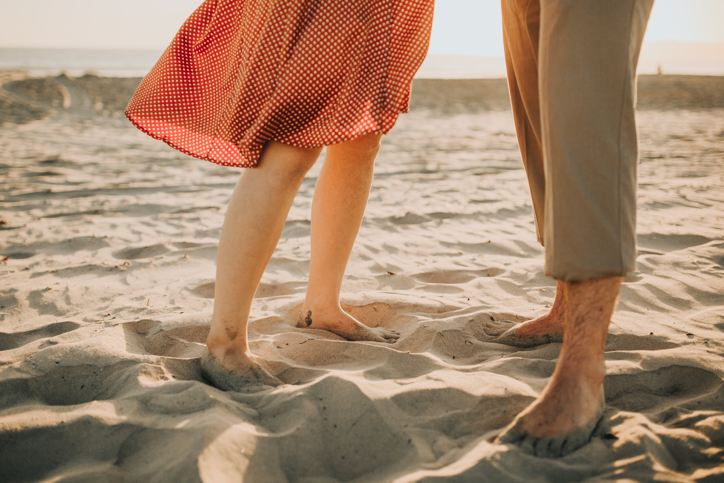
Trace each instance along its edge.
<instances>
[{"instance_id":1,"label":"man's nearer bare foot and ankle below the trouser cuff","mask_svg":"<svg viewBox=\"0 0 724 483\"><path fill-rule=\"evenodd\" d=\"M591 439L605 409L606 334L621 277L564 282L565 340L548 385L497 437L537 456L563 456Z\"/></svg>"}]
</instances>

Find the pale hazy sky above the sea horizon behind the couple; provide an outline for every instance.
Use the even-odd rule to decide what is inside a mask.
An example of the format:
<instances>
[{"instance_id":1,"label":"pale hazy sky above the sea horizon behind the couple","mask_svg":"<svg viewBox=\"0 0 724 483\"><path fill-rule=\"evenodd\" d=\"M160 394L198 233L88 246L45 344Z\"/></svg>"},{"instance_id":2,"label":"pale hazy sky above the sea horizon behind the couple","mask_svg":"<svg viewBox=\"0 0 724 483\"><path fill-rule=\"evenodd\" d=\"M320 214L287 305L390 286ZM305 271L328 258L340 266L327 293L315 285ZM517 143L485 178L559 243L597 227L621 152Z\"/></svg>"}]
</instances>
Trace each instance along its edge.
<instances>
[{"instance_id":1,"label":"pale hazy sky above the sea horizon behind the couple","mask_svg":"<svg viewBox=\"0 0 724 483\"><path fill-rule=\"evenodd\" d=\"M0 47L164 49L201 0L0 0ZM724 0L656 0L647 41L724 42ZM502 56L500 0L437 0L430 51Z\"/></svg>"}]
</instances>

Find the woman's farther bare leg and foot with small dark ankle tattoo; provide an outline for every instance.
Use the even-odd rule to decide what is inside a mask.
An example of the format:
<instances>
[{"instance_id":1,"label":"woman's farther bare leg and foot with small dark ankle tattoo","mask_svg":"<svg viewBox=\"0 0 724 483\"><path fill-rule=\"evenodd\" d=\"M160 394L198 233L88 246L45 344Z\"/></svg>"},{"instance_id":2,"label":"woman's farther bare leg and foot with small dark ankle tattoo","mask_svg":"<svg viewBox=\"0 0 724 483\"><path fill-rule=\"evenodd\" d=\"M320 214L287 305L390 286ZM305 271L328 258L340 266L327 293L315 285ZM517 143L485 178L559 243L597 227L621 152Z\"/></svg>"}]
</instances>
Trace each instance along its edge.
<instances>
[{"instance_id":1,"label":"woman's farther bare leg and foot with small dark ankle tattoo","mask_svg":"<svg viewBox=\"0 0 724 483\"><path fill-rule=\"evenodd\" d=\"M307 295L298 327L326 329L348 340L395 342L382 327L361 324L340 307L340 288L369 198L382 135L327 146L314 188Z\"/></svg>"}]
</instances>

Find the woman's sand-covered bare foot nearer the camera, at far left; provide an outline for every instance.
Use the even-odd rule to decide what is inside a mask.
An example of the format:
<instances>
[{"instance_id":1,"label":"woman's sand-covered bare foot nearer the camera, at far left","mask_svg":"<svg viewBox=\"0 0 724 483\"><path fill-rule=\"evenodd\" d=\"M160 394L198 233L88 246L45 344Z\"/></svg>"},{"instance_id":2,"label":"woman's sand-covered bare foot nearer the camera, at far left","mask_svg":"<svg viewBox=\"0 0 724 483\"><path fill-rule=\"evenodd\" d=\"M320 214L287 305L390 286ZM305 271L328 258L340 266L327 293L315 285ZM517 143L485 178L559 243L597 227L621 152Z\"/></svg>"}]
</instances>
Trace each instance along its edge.
<instances>
[{"instance_id":1,"label":"woman's sand-covered bare foot nearer the camera, at far left","mask_svg":"<svg viewBox=\"0 0 724 483\"><path fill-rule=\"evenodd\" d=\"M258 392L284 384L271 374L263 358L251 352L241 356L224 352L224 356L214 356L209 348L201 356L201 374L221 390Z\"/></svg>"}]
</instances>

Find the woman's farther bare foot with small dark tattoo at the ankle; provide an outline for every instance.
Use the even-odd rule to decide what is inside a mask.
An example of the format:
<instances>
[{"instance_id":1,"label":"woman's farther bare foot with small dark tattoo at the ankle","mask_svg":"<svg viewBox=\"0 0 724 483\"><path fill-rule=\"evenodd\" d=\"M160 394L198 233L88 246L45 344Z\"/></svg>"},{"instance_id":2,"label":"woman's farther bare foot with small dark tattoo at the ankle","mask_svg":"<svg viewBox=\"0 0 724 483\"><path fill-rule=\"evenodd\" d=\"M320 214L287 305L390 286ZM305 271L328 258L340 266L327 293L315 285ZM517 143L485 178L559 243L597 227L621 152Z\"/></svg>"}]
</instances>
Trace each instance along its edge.
<instances>
[{"instance_id":1,"label":"woman's farther bare foot with small dark tattoo at the ankle","mask_svg":"<svg viewBox=\"0 0 724 483\"><path fill-rule=\"evenodd\" d=\"M303 316L304 315L304 316ZM384 327L367 327L342 308L331 311L311 311L302 308L297 319L300 329L323 329L344 337L347 340L367 340L370 342L395 343L400 333Z\"/></svg>"}]
</instances>

